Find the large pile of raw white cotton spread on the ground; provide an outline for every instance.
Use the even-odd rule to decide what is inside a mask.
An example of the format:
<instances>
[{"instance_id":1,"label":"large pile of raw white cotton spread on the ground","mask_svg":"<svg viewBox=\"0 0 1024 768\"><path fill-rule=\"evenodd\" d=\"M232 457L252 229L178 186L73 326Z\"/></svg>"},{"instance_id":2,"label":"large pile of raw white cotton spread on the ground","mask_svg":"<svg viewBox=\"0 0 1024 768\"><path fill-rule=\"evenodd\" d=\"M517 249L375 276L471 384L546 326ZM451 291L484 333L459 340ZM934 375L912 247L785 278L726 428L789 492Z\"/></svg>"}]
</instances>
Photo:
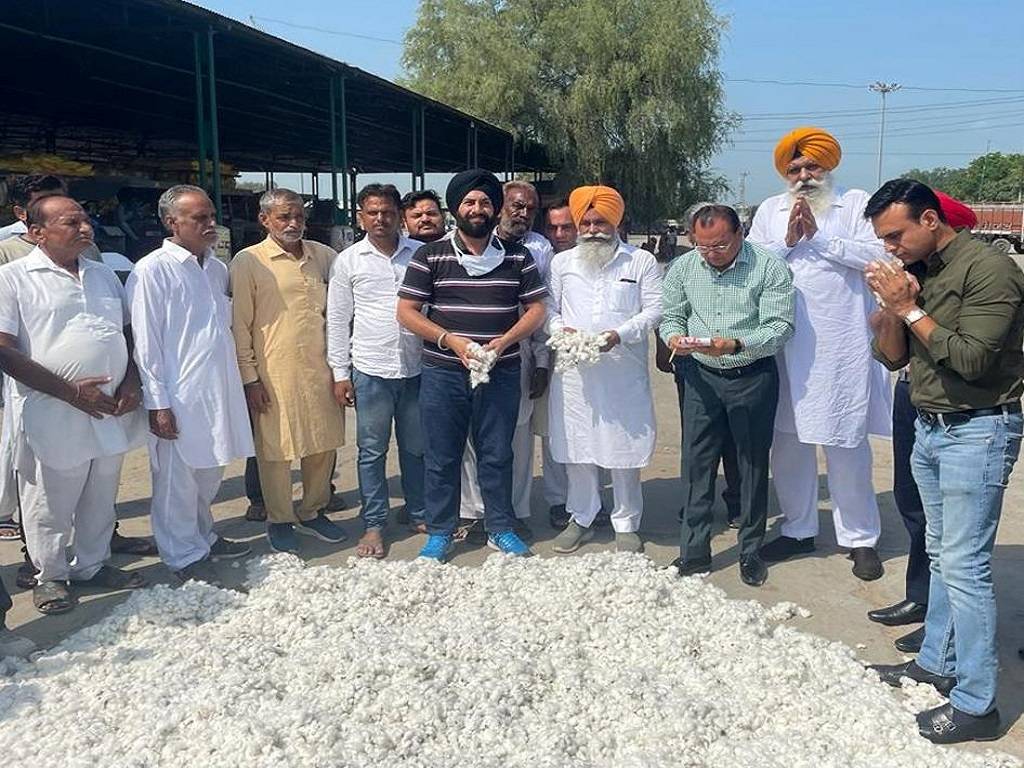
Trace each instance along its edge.
<instances>
[{"instance_id":1,"label":"large pile of raw white cotton spread on the ground","mask_svg":"<svg viewBox=\"0 0 1024 768\"><path fill-rule=\"evenodd\" d=\"M938 748L792 603L637 555L304 567L134 594L8 660L0 755L33 768L1010 768Z\"/></svg>"}]
</instances>

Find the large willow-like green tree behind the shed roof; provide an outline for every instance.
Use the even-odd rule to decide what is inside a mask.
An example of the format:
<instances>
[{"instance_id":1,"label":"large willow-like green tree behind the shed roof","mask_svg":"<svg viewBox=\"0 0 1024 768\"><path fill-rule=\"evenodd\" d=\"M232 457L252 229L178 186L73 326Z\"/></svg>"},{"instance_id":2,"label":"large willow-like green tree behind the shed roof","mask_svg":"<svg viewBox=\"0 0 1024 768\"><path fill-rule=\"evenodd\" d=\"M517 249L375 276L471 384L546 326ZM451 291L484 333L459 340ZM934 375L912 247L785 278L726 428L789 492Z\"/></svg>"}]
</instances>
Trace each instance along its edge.
<instances>
[{"instance_id":1,"label":"large willow-like green tree behind the shed roof","mask_svg":"<svg viewBox=\"0 0 1024 768\"><path fill-rule=\"evenodd\" d=\"M403 83L544 144L561 189L609 183L636 222L717 199L735 118L706 0L423 0Z\"/></svg>"}]
</instances>

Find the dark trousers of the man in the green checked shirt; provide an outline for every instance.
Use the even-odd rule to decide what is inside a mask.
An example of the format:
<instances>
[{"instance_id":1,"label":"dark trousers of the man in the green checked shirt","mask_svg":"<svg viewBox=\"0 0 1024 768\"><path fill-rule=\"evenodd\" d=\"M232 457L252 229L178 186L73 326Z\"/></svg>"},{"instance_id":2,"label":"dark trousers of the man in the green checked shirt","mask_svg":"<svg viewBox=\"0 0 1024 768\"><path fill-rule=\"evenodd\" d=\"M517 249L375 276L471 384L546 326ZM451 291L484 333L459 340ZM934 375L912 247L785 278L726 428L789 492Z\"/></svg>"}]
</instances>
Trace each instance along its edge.
<instances>
[{"instance_id":1,"label":"dark trousers of the man in the green checked shirt","mask_svg":"<svg viewBox=\"0 0 1024 768\"><path fill-rule=\"evenodd\" d=\"M712 507L719 457L727 436L739 476L739 554L756 554L768 519L768 454L778 403L778 369L764 357L734 371L684 360L683 515L680 555L711 557Z\"/></svg>"}]
</instances>

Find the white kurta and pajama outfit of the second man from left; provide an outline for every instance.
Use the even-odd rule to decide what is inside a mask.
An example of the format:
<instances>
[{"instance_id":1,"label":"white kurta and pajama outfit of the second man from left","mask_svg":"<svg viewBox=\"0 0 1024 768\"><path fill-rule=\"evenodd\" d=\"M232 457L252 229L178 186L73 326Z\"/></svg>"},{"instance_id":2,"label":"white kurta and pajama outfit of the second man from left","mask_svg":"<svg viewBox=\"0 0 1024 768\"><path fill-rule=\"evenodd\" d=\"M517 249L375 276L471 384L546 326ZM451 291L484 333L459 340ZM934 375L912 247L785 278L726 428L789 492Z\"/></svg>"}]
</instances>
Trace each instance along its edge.
<instances>
[{"instance_id":1,"label":"white kurta and pajama outfit of the second man from left","mask_svg":"<svg viewBox=\"0 0 1024 768\"><path fill-rule=\"evenodd\" d=\"M172 570L209 556L224 467L253 455L227 286L212 249L201 266L169 240L128 279L143 404L170 409L178 428L174 440L150 435L153 532Z\"/></svg>"}]
</instances>

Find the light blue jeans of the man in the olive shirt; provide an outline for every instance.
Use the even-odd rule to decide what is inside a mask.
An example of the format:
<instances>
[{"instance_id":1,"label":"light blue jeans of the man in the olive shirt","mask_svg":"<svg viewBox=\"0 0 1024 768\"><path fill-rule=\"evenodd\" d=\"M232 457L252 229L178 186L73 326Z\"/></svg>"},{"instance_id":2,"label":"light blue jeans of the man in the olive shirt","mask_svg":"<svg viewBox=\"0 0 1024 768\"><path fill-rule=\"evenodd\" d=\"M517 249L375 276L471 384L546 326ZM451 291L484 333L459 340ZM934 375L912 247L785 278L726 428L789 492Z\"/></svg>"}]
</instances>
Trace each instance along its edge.
<instances>
[{"instance_id":1,"label":"light blue jeans of the man in the olive shirt","mask_svg":"<svg viewBox=\"0 0 1024 768\"><path fill-rule=\"evenodd\" d=\"M949 701L969 715L985 715L995 706L992 547L1022 427L1020 414L982 416L948 427L916 422L910 462L932 559L918 665L955 677Z\"/></svg>"}]
</instances>

